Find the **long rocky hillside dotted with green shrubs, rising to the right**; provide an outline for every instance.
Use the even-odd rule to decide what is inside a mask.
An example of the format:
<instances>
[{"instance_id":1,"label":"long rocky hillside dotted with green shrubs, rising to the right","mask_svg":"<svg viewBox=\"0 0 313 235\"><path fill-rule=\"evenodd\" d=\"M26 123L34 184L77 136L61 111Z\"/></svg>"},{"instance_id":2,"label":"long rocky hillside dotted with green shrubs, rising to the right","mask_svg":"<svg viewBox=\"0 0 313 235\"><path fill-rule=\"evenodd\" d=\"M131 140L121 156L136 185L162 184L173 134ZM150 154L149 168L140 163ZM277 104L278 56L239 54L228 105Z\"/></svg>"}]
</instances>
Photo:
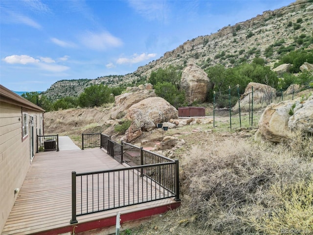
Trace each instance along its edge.
<instances>
[{"instance_id":1,"label":"long rocky hillside dotted with green shrubs, rising to the right","mask_svg":"<svg viewBox=\"0 0 313 235\"><path fill-rule=\"evenodd\" d=\"M268 66L273 66L281 53L312 44L307 40L312 36L313 0L297 0L280 9L265 11L245 22L225 26L211 35L188 40L133 73L90 80L62 80L54 83L45 95L55 100L67 95L78 95L91 84L135 84L135 81L148 79L151 72L158 68L169 65L184 68L190 62L202 69L216 64L232 67L259 56L266 59Z\"/></svg>"}]
</instances>

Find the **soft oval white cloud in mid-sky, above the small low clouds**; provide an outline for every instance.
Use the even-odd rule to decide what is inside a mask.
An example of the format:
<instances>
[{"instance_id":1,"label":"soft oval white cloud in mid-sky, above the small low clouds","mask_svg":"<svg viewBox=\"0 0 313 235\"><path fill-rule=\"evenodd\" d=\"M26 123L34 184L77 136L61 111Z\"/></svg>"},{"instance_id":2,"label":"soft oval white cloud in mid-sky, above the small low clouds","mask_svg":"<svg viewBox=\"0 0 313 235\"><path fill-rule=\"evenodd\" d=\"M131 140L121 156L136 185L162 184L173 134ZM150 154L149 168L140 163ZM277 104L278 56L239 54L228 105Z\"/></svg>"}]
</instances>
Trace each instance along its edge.
<instances>
[{"instance_id":1,"label":"soft oval white cloud in mid-sky, above the small low clouds","mask_svg":"<svg viewBox=\"0 0 313 235\"><path fill-rule=\"evenodd\" d=\"M120 47L123 45L122 40L114 37L109 32L87 32L82 36L81 41L86 47L94 50L105 50L110 47Z\"/></svg>"}]
</instances>

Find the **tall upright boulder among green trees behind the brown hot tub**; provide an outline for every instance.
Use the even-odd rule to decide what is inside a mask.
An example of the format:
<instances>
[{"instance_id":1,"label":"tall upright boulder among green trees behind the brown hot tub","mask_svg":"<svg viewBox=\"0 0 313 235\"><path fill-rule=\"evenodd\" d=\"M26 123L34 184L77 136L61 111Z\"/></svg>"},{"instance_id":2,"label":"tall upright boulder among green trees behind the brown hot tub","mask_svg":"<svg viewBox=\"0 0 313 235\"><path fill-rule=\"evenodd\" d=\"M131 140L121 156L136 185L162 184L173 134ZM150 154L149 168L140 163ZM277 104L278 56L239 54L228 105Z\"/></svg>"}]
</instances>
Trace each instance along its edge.
<instances>
[{"instance_id":1,"label":"tall upright boulder among green trees behind the brown hot tub","mask_svg":"<svg viewBox=\"0 0 313 235\"><path fill-rule=\"evenodd\" d=\"M182 71L180 87L185 91L186 101L190 105L195 101L205 101L210 88L210 81L207 74L199 66L190 63Z\"/></svg>"}]
</instances>

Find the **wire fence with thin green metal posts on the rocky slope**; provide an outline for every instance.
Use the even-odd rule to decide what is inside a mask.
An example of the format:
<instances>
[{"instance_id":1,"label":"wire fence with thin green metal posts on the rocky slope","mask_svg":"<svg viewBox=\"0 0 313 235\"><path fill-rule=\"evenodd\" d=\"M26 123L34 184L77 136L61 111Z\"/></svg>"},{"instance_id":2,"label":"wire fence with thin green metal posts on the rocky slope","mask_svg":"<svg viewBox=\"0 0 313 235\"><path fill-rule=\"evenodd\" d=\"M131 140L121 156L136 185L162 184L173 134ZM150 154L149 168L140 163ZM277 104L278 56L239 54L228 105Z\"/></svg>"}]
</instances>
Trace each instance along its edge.
<instances>
[{"instance_id":1,"label":"wire fence with thin green metal posts on the rocky slope","mask_svg":"<svg viewBox=\"0 0 313 235\"><path fill-rule=\"evenodd\" d=\"M306 100L313 95L313 87L276 90L267 85L248 85L245 93L239 86L228 90L213 92L213 126L226 125L230 129L257 126L264 109L270 103L279 103L296 98Z\"/></svg>"}]
</instances>

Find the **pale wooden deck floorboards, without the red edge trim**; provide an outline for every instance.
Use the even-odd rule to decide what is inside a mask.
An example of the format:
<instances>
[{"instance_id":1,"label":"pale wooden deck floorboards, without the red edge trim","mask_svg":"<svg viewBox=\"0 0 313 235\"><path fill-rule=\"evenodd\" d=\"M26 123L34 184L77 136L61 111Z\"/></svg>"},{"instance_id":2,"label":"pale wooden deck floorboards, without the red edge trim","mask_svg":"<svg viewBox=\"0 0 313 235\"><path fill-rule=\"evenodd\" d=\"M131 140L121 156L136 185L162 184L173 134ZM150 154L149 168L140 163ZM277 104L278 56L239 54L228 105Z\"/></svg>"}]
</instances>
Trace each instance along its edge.
<instances>
[{"instance_id":1,"label":"pale wooden deck floorboards, without the red edge trim","mask_svg":"<svg viewBox=\"0 0 313 235\"><path fill-rule=\"evenodd\" d=\"M65 150L36 154L1 235L28 235L68 226L71 219L71 172L76 171L77 173L81 173L123 167L127 166L118 163L101 149ZM114 179L115 193L121 190L121 186L116 184L118 181L120 184L130 181L130 188L133 188L132 184L134 181L136 193L124 193L119 199L115 198L113 201L113 199L110 198L110 200L108 200L109 192L107 191L107 186L108 184L113 186L112 177L109 180L103 176L102 179L96 180L96 187L102 190L100 191L102 194L99 195L99 204L97 201L94 202L95 207L99 205L99 208L106 210L109 208L108 203L110 203L110 207L112 207L113 203L115 203L115 205L127 206L129 201L130 203L133 201L139 203L145 200L147 198L147 191L166 192L165 189L158 187L146 177L139 177L136 171L133 171L127 176L115 173ZM88 181L89 180L90 179L88 179ZM135 184L138 181L141 181L139 187ZM78 182L76 185L79 189L80 183ZM81 193L87 195L85 189L82 189ZM111 189L110 196L112 196L112 193ZM88 195L88 206L90 206L92 205L90 191L88 191ZM77 198L79 197L80 193L77 194ZM173 199L163 199L132 205L78 216L77 220L79 223L88 222L90 220L114 216L117 211L130 213L145 210L149 207L154 208L158 205L167 205L172 201ZM86 206L86 202L85 204L83 203L83 211L86 209ZM80 205L77 206L77 211L79 210L81 210Z\"/></svg>"}]
</instances>

